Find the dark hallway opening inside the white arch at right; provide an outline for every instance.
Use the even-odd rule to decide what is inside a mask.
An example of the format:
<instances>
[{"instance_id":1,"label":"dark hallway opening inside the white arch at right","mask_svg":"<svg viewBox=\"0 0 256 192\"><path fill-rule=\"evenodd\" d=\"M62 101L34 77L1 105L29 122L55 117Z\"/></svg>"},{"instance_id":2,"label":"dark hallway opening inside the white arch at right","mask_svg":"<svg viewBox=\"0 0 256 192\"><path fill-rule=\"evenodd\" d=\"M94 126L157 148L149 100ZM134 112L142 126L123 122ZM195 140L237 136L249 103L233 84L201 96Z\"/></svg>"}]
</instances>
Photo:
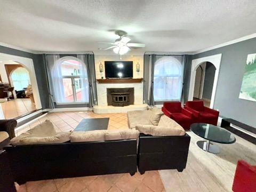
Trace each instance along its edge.
<instances>
[{"instance_id":1,"label":"dark hallway opening inside the white arch at right","mask_svg":"<svg viewBox=\"0 0 256 192\"><path fill-rule=\"evenodd\" d=\"M203 100L210 107L216 68L211 62L203 62L196 69L193 101Z\"/></svg>"}]
</instances>

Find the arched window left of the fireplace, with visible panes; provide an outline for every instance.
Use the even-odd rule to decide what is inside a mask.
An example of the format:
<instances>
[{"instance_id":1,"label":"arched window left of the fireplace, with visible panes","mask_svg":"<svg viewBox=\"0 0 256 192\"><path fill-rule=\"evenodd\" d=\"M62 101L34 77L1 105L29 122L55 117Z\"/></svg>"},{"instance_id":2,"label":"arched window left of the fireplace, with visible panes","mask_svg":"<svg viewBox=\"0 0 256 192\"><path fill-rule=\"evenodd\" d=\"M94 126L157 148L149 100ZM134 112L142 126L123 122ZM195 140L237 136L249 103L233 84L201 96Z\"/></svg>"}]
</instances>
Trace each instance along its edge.
<instances>
[{"instance_id":1,"label":"arched window left of the fireplace, with visible panes","mask_svg":"<svg viewBox=\"0 0 256 192\"><path fill-rule=\"evenodd\" d=\"M57 103L89 102L89 83L83 61L75 57L56 60L52 80Z\"/></svg>"}]
</instances>

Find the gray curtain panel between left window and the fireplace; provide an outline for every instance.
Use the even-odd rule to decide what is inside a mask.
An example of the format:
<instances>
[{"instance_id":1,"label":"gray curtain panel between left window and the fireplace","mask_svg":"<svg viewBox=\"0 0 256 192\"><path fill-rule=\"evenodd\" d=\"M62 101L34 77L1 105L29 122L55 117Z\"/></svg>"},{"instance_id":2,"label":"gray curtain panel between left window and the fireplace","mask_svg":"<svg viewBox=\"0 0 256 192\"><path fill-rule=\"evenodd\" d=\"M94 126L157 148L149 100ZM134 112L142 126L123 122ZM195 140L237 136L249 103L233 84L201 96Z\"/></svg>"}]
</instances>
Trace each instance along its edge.
<instances>
[{"instance_id":1,"label":"gray curtain panel between left window and the fireplace","mask_svg":"<svg viewBox=\"0 0 256 192\"><path fill-rule=\"evenodd\" d=\"M86 54L85 55L85 65L88 74L88 83L89 83L89 107L97 105L97 87L96 87L96 76L95 76L95 65L94 65L94 55Z\"/></svg>"}]
</instances>

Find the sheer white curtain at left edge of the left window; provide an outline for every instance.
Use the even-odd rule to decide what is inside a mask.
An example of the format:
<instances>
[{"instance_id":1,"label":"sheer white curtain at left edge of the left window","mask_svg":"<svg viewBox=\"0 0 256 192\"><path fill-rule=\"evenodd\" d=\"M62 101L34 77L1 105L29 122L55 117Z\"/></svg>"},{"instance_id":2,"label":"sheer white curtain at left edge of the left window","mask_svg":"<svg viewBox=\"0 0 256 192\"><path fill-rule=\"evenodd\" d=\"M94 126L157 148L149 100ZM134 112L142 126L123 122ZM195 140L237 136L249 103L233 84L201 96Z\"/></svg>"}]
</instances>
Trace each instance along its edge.
<instances>
[{"instance_id":1,"label":"sheer white curtain at left edge of the left window","mask_svg":"<svg viewBox=\"0 0 256 192\"><path fill-rule=\"evenodd\" d=\"M57 103L65 103L65 91L63 87L61 65L59 62L60 55L46 55L47 68L51 74L51 89L53 93L53 101Z\"/></svg>"}]
</instances>

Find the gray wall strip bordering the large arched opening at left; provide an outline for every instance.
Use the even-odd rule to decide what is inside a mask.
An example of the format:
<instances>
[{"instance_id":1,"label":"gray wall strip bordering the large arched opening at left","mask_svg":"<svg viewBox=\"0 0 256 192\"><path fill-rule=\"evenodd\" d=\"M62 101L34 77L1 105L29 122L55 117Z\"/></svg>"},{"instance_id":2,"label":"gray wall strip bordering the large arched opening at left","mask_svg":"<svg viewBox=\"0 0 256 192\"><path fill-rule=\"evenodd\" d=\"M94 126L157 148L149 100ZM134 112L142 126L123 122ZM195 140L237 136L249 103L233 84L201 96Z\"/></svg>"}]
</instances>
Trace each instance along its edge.
<instances>
[{"instance_id":1,"label":"gray wall strip bordering the large arched opening at left","mask_svg":"<svg viewBox=\"0 0 256 192\"><path fill-rule=\"evenodd\" d=\"M47 89L47 83L46 83L46 74L45 74L43 55L28 53L25 51L19 51L19 50L11 49L9 47L4 47L4 46L0 46L0 53L17 55L20 57L33 59L35 73L36 73L36 81L37 81L38 90L41 98L42 108L43 109L49 108L48 89Z\"/></svg>"}]
</instances>

